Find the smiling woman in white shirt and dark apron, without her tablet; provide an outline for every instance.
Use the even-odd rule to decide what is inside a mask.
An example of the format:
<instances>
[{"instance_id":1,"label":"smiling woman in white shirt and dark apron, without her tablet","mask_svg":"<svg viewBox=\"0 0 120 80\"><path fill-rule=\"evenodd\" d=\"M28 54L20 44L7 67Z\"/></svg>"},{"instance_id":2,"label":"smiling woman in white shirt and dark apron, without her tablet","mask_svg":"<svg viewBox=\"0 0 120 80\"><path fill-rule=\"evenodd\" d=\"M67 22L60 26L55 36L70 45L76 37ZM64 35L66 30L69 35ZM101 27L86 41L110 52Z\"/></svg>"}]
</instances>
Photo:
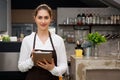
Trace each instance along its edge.
<instances>
[{"instance_id":1,"label":"smiling woman in white shirt and dark apron, without her tablet","mask_svg":"<svg viewBox=\"0 0 120 80\"><path fill-rule=\"evenodd\" d=\"M18 68L27 72L26 80L59 80L67 70L67 57L63 39L48 28L52 20L52 10L46 5L39 5L35 9L34 20L37 31L26 36L21 45ZM52 63L44 60L34 66L32 52L35 50L52 51ZM32 56L31 56L32 55Z\"/></svg>"}]
</instances>

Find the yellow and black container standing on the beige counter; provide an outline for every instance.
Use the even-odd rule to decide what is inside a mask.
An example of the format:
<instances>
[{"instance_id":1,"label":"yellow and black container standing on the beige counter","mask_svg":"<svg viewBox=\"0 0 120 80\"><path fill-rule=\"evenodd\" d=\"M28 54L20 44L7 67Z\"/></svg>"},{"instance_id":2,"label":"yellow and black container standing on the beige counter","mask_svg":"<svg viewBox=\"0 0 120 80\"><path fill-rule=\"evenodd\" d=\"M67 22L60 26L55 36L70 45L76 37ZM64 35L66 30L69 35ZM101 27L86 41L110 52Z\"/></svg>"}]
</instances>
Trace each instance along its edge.
<instances>
[{"instance_id":1,"label":"yellow and black container standing on the beige counter","mask_svg":"<svg viewBox=\"0 0 120 80\"><path fill-rule=\"evenodd\" d=\"M76 42L75 55L76 57L82 57L84 55L83 48L78 40Z\"/></svg>"}]
</instances>

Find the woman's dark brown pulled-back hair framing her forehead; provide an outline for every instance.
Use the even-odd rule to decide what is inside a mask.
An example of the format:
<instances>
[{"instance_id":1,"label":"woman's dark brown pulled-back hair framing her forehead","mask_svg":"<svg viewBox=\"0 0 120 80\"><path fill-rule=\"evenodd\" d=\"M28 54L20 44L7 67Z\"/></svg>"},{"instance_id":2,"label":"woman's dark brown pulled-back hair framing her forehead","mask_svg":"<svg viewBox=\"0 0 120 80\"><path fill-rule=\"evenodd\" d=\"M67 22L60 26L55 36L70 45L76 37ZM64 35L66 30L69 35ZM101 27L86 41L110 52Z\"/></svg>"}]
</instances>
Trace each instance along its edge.
<instances>
[{"instance_id":1,"label":"woman's dark brown pulled-back hair framing her forehead","mask_svg":"<svg viewBox=\"0 0 120 80\"><path fill-rule=\"evenodd\" d=\"M52 18L52 14L53 14L52 9L47 4L39 5L34 11L34 16L37 16L38 11L42 9L46 10L49 13L50 17Z\"/></svg>"}]
</instances>

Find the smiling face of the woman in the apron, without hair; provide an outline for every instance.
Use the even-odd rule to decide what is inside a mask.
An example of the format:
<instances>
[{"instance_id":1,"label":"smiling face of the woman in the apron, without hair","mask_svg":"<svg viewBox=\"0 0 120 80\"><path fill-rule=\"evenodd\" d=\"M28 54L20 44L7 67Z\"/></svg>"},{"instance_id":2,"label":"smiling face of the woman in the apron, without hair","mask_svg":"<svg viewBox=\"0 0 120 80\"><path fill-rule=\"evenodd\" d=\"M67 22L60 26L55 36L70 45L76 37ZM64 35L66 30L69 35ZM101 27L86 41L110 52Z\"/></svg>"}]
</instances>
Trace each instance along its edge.
<instances>
[{"instance_id":1,"label":"smiling face of the woman in the apron, without hair","mask_svg":"<svg viewBox=\"0 0 120 80\"><path fill-rule=\"evenodd\" d=\"M41 9L38 11L37 15L34 17L35 22L38 26L38 30L48 30L51 22L51 17L47 10Z\"/></svg>"}]
</instances>

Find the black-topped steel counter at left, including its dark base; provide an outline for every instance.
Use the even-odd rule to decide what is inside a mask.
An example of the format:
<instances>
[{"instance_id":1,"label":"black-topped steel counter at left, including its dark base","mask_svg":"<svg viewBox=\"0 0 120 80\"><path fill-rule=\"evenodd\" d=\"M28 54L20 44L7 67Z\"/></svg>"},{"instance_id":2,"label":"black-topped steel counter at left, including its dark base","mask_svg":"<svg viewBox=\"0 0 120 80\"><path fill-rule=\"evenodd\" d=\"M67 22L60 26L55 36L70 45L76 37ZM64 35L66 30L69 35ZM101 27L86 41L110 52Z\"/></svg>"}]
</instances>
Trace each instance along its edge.
<instances>
[{"instance_id":1,"label":"black-topped steel counter at left, including its dark base","mask_svg":"<svg viewBox=\"0 0 120 80\"><path fill-rule=\"evenodd\" d=\"M0 42L0 79L24 80L26 72L18 70L21 42Z\"/></svg>"}]
</instances>

